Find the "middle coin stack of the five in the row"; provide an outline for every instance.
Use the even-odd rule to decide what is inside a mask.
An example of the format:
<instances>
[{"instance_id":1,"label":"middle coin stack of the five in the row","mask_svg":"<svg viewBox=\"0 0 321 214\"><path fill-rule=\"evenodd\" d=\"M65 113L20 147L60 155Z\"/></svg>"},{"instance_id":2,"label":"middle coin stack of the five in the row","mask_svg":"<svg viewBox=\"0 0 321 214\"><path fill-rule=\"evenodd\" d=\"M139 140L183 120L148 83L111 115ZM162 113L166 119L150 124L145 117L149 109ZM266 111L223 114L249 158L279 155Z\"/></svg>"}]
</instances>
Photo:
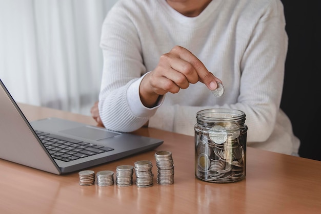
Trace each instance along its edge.
<instances>
[{"instance_id":1,"label":"middle coin stack of the five in the row","mask_svg":"<svg viewBox=\"0 0 321 214\"><path fill-rule=\"evenodd\" d=\"M121 165L116 167L116 184L118 186L130 186L133 184L134 167Z\"/></svg>"}]
</instances>

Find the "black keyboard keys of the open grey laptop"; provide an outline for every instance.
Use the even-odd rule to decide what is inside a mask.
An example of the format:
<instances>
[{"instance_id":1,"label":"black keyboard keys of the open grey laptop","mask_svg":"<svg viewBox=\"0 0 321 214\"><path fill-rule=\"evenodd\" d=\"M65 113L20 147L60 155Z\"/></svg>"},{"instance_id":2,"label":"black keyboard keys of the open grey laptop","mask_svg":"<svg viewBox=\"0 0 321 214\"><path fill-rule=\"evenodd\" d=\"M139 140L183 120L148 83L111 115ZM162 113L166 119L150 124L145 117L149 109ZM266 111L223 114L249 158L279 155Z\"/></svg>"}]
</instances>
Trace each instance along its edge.
<instances>
[{"instance_id":1,"label":"black keyboard keys of the open grey laptop","mask_svg":"<svg viewBox=\"0 0 321 214\"><path fill-rule=\"evenodd\" d=\"M46 132L35 132L47 148L51 157L65 162L114 150L110 147L53 135Z\"/></svg>"}]
</instances>

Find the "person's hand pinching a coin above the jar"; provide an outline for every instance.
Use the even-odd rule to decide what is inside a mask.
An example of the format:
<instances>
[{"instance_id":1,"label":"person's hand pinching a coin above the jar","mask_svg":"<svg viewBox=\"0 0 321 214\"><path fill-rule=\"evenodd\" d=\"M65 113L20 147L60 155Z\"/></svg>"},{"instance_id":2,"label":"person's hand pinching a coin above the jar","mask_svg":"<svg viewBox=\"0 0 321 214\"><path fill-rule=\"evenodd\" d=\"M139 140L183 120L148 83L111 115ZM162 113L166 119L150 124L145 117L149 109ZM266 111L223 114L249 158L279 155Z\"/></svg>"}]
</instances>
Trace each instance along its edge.
<instances>
[{"instance_id":1,"label":"person's hand pinching a coin above the jar","mask_svg":"<svg viewBox=\"0 0 321 214\"><path fill-rule=\"evenodd\" d=\"M178 93L198 81L210 90L217 88L216 82L222 83L189 50L175 46L169 53L160 56L157 67L144 77L139 94L143 104L152 107L159 95Z\"/></svg>"}]
</instances>

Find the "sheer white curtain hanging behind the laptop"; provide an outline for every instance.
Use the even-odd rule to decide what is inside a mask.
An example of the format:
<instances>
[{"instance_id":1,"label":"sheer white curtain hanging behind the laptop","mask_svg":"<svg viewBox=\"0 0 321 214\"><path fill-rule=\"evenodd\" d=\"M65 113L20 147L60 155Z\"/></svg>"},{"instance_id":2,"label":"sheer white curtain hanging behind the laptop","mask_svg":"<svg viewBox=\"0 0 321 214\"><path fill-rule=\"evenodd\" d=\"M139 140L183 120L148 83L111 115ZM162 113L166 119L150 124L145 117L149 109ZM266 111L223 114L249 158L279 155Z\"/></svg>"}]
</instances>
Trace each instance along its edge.
<instances>
[{"instance_id":1,"label":"sheer white curtain hanging behind the laptop","mask_svg":"<svg viewBox=\"0 0 321 214\"><path fill-rule=\"evenodd\" d=\"M18 102L90 115L117 0L0 0L0 78Z\"/></svg>"}]
</instances>

